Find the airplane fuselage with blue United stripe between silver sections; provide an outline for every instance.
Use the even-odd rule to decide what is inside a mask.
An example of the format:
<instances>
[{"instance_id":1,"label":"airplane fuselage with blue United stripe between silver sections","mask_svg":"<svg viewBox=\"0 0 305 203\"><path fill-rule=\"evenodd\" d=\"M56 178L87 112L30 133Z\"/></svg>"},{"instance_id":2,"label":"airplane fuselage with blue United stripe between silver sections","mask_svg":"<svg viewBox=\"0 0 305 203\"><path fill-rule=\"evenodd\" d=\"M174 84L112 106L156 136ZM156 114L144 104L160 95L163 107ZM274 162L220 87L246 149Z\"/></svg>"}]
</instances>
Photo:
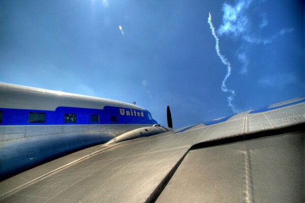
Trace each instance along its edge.
<instances>
[{"instance_id":1,"label":"airplane fuselage with blue United stripe between silver sections","mask_svg":"<svg viewBox=\"0 0 305 203\"><path fill-rule=\"evenodd\" d=\"M122 115L123 109L134 113ZM44 114L44 122L30 122L32 112ZM129 103L7 83L0 83L0 113L1 179L157 123L147 110ZM75 114L77 121L66 123L65 114ZM92 114L98 122L91 122Z\"/></svg>"}]
</instances>

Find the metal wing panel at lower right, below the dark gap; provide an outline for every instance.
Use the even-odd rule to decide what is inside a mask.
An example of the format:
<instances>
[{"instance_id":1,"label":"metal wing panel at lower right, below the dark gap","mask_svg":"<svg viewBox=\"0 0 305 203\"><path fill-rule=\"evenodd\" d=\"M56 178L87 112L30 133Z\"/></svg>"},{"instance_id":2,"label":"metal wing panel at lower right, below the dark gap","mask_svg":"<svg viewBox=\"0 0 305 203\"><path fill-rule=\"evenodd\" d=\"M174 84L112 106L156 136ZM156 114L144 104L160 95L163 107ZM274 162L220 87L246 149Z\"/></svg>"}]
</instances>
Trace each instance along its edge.
<instances>
[{"instance_id":1,"label":"metal wing panel at lower right, below the dark gap","mask_svg":"<svg viewBox=\"0 0 305 203\"><path fill-rule=\"evenodd\" d=\"M304 202L304 132L191 150L157 202Z\"/></svg>"}]
</instances>

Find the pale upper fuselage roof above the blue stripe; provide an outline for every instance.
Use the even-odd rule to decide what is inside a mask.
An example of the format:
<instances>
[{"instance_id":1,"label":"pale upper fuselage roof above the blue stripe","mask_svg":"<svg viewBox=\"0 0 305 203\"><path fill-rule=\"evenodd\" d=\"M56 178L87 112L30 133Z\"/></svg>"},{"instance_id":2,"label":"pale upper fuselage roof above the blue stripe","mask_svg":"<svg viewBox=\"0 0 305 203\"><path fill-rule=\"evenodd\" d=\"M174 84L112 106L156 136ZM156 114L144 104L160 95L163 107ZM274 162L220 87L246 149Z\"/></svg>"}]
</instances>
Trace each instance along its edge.
<instances>
[{"instance_id":1,"label":"pale upper fuselage roof above the blue stripe","mask_svg":"<svg viewBox=\"0 0 305 203\"><path fill-rule=\"evenodd\" d=\"M105 106L144 110L141 107L106 98L0 82L0 107L54 111L57 107L103 109Z\"/></svg>"}]
</instances>

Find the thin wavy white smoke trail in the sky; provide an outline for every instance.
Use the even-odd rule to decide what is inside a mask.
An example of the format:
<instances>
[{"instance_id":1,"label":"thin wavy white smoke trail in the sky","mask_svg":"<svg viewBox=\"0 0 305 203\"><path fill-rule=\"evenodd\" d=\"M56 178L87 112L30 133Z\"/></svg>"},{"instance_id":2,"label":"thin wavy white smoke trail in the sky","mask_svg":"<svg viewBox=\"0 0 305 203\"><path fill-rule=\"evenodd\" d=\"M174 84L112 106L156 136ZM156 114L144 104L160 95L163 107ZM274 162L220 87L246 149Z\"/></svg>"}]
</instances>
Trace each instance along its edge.
<instances>
[{"instance_id":1,"label":"thin wavy white smoke trail in the sky","mask_svg":"<svg viewBox=\"0 0 305 203\"><path fill-rule=\"evenodd\" d=\"M215 49L216 49L216 52L217 52L217 55L219 56L219 58L221 59L221 62L223 64L225 64L227 66L227 74L225 76L225 78L223 79L222 81L222 84L221 84L221 90L223 92L230 92L231 95L228 96L227 100L228 100L228 106L232 109L232 111L234 113L237 113L237 108L232 104L232 100L234 99L235 97L235 91L232 90L232 89L228 89L227 86L226 86L226 81L227 79L229 78L229 76L231 75L231 64L230 62L228 61L228 59L222 55L220 53L220 48L219 48L219 38L217 37L216 35L216 32L215 32L215 27L212 23L212 16L211 16L211 13L209 12L208 13L208 20L207 20L208 24L210 25L210 29L212 31L212 35L214 36L215 38L215 41L216 41L216 45L215 45Z\"/></svg>"}]
</instances>

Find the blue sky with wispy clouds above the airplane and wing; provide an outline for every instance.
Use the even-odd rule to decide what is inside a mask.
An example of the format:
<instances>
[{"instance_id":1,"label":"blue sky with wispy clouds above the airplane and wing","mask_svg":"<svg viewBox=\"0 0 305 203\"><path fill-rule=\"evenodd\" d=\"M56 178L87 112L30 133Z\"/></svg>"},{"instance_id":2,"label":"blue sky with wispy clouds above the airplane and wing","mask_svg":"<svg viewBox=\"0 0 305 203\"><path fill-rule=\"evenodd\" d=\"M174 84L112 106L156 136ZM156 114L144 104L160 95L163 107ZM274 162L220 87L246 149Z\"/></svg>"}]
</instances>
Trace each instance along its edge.
<instances>
[{"instance_id":1,"label":"blue sky with wispy clouds above the airplane and wing","mask_svg":"<svg viewBox=\"0 0 305 203\"><path fill-rule=\"evenodd\" d=\"M302 1L0 1L1 82L135 100L163 125L169 105L174 128L304 95L304 44Z\"/></svg>"}]
</instances>

